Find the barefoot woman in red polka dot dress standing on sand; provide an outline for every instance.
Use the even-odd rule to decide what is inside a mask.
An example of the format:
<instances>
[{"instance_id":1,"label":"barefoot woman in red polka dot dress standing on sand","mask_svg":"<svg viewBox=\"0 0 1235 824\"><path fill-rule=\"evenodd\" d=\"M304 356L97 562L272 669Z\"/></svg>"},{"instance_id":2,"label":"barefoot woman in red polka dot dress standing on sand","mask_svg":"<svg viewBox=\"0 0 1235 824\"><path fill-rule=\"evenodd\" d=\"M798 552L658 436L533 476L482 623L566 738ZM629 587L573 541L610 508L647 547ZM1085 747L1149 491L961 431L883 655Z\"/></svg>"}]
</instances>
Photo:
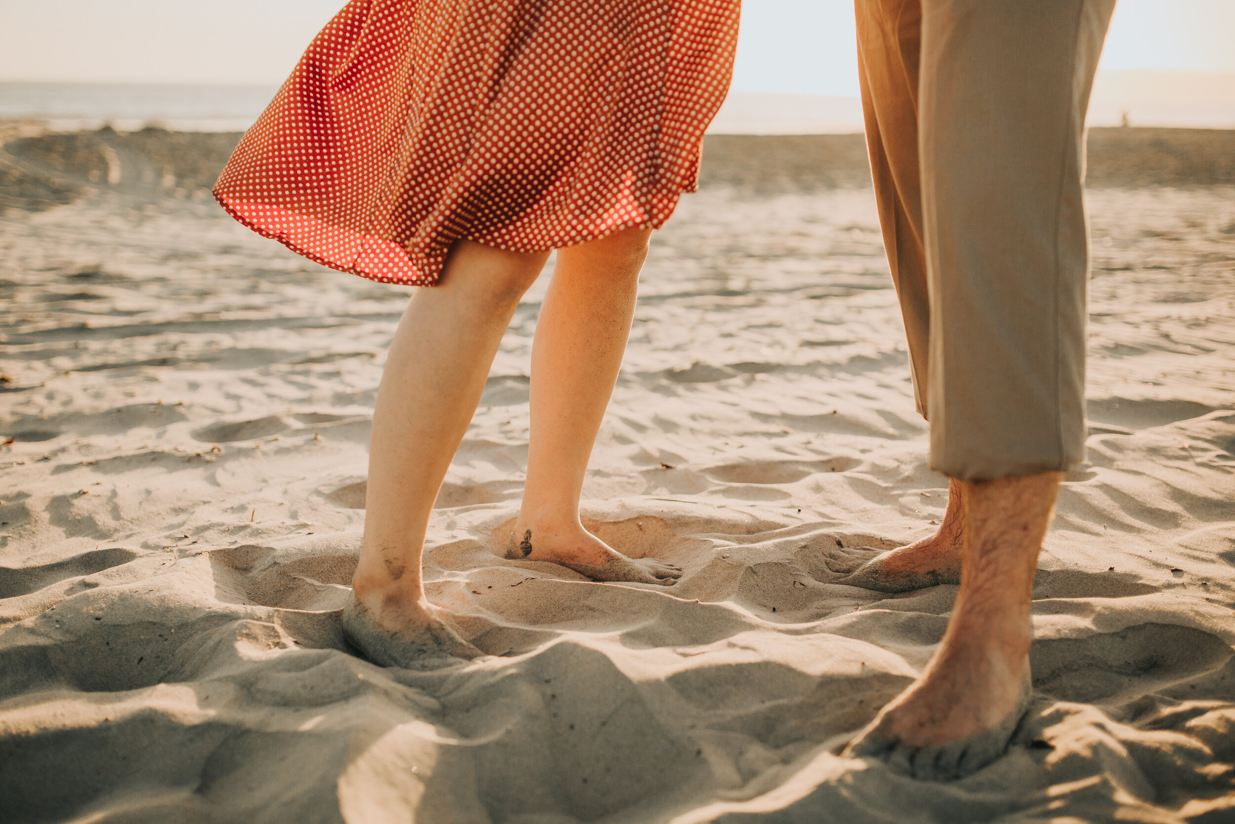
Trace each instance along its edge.
<instances>
[{"instance_id":1,"label":"barefoot woman in red polka dot dress standing on sand","mask_svg":"<svg viewBox=\"0 0 1235 824\"><path fill-rule=\"evenodd\" d=\"M509 556L672 584L579 521L648 236L697 187L729 89L739 0L353 0L314 40L215 187L241 222L412 295L369 444L343 613L377 663L479 655L425 598L433 500L521 295L536 326L522 508Z\"/></svg>"}]
</instances>

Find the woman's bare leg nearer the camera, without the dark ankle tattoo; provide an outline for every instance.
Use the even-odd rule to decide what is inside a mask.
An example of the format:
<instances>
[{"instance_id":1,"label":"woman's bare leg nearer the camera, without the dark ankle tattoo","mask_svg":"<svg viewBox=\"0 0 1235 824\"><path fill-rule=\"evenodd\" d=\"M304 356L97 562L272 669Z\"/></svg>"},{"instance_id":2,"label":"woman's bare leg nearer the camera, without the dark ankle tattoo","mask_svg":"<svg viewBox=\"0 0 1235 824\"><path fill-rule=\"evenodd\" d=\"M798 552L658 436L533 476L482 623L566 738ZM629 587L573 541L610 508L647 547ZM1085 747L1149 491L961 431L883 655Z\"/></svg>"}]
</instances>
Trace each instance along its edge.
<instances>
[{"instance_id":1,"label":"woman's bare leg nearer the camera, without the dark ankle tattoo","mask_svg":"<svg viewBox=\"0 0 1235 824\"><path fill-rule=\"evenodd\" d=\"M441 284L412 295L390 343L373 410L364 542L352 588L369 623L404 635L431 630L431 640L420 634L421 646L452 642L438 634L421 586L433 500L519 299L547 257L461 241Z\"/></svg>"}]
</instances>

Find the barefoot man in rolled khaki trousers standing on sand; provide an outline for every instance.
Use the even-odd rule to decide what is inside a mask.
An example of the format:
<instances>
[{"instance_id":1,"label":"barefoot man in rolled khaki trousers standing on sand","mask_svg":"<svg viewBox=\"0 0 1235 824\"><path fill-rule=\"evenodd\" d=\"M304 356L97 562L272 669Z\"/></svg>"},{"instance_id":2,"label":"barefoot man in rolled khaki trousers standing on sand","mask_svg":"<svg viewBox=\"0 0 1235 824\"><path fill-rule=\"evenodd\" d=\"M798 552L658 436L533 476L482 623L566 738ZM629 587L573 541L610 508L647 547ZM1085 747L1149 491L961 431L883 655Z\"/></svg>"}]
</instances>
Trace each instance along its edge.
<instances>
[{"instance_id":1,"label":"barefoot man in rolled khaki trousers standing on sand","mask_svg":"<svg viewBox=\"0 0 1235 824\"><path fill-rule=\"evenodd\" d=\"M1034 571L1084 458L1084 117L1114 0L857 0L879 221L939 531L832 568L869 589L960 583L921 676L847 747L923 778L999 757L1031 696Z\"/></svg>"}]
</instances>

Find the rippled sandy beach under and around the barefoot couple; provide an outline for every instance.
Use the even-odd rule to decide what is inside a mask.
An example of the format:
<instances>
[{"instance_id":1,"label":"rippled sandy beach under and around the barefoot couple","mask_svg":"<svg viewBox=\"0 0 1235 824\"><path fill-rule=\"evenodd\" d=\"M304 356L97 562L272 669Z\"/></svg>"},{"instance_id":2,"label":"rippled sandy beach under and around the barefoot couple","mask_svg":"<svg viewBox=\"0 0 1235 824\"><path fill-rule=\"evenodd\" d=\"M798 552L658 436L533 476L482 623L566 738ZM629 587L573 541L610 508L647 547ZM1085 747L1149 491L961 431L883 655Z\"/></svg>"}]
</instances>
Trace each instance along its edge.
<instances>
[{"instance_id":1,"label":"rippled sandy beach under and around the barefoot couple","mask_svg":"<svg viewBox=\"0 0 1235 824\"><path fill-rule=\"evenodd\" d=\"M425 555L488 656L409 671L338 628L408 289L227 217L236 135L40 132L0 125L0 819L1235 822L1235 132L1092 133L1088 462L1032 709L955 783L837 755L956 594L829 566L947 488L861 136L709 137L653 237L584 510L672 588L501 557L550 262Z\"/></svg>"}]
</instances>

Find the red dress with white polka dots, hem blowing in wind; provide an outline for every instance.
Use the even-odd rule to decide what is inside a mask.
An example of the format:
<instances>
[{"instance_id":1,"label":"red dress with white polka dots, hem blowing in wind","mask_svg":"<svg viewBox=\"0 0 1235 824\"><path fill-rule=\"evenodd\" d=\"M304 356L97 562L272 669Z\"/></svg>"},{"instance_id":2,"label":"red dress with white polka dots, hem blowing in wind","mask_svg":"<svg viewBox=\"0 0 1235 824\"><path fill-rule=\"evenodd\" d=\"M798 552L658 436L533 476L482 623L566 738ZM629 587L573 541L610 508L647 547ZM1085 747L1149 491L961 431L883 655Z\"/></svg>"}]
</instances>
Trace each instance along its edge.
<instances>
[{"instance_id":1,"label":"red dress with white polka dots, hem blowing in wind","mask_svg":"<svg viewBox=\"0 0 1235 824\"><path fill-rule=\"evenodd\" d=\"M353 0L215 184L336 269L432 285L452 241L659 227L729 89L739 0Z\"/></svg>"}]
</instances>

